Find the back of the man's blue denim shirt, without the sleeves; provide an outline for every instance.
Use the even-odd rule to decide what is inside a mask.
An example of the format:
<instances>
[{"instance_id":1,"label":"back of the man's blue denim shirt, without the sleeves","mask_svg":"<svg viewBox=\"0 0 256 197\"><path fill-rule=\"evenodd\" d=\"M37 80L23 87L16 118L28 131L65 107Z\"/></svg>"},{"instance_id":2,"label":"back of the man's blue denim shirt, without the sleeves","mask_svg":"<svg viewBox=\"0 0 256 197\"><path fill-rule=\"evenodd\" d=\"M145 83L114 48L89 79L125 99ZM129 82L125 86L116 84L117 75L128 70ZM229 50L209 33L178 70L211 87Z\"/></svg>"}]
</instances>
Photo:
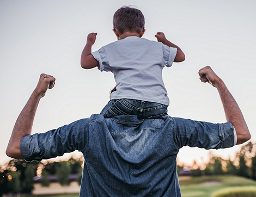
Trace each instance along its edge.
<instances>
[{"instance_id":1,"label":"back of the man's blue denim shirt, without the sleeves","mask_svg":"<svg viewBox=\"0 0 256 197\"><path fill-rule=\"evenodd\" d=\"M92 119L81 196L177 196L178 148L169 116L165 121L125 115Z\"/></svg>"}]
</instances>

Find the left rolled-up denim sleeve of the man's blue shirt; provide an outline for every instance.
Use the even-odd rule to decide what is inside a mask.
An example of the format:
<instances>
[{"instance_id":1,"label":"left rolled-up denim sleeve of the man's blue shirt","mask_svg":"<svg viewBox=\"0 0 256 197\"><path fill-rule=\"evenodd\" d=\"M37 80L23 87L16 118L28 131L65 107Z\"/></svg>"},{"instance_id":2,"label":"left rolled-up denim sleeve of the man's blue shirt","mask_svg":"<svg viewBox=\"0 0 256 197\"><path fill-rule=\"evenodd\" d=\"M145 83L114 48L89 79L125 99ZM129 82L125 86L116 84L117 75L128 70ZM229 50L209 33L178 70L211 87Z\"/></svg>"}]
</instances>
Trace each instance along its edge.
<instances>
[{"instance_id":1,"label":"left rolled-up denim sleeve of the man's blue shirt","mask_svg":"<svg viewBox=\"0 0 256 197\"><path fill-rule=\"evenodd\" d=\"M36 133L21 138L20 149L26 161L41 161L62 156L66 152L84 151L88 143L88 119L46 133Z\"/></svg>"}]
</instances>

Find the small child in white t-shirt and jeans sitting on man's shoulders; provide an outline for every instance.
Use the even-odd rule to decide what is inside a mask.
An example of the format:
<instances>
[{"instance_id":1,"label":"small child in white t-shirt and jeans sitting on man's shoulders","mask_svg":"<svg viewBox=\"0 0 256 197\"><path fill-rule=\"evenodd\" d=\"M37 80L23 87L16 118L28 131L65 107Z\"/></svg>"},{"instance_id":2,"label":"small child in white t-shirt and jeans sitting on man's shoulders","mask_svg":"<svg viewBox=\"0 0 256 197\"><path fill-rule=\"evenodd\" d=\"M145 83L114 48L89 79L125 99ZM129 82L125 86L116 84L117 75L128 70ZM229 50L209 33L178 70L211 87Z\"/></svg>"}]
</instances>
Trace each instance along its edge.
<instances>
[{"instance_id":1,"label":"small child in white t-shirt and jeans sitting on man's shoulders","mask_svg":"<svg viewBox=\"0 0 256 197\"><path fill-rule=\"evenodd\" d=\"M115 115L138 115L139 118L161 118L167 115L169 99L162 80L162 69L185 60L181 49L163 33L159 42L142 38L144 16L138 9L121 7L113 17L118 41L92 53L97 33L90 33L81 56L84 69L98 67L114 74L117 87L101 111L105 118ZM162 42L162 43L161 43Z\"/></svg>"}]
</instances>

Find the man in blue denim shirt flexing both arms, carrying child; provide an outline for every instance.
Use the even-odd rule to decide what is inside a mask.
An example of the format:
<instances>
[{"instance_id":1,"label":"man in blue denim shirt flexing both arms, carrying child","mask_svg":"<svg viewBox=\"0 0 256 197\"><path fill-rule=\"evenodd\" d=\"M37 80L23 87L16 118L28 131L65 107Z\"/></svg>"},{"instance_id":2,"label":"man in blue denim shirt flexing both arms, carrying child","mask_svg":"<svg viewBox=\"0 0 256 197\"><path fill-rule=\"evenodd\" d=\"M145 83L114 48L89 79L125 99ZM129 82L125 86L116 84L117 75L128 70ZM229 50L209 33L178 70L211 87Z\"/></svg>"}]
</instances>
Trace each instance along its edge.
<instances>
[{"instance_id":1,"label":"man in blue denim shirt flexing both arms, carrying child","mask_svg":"<svg viewBox=\"0 0 256 197\"><path fill-rule=\"evenodd\" d=\"M57 130L31 135L38 103L55 78L42 74L14 126L7 155L41 160L79 150L84 155L80 196L181 196L176 155L182 146L219 149L251 138L243 115L223 81L206 66L202 82L217 88L227 122L212 124L163 116L137 119L101 114Z\"/></svg>"}]
</instances>

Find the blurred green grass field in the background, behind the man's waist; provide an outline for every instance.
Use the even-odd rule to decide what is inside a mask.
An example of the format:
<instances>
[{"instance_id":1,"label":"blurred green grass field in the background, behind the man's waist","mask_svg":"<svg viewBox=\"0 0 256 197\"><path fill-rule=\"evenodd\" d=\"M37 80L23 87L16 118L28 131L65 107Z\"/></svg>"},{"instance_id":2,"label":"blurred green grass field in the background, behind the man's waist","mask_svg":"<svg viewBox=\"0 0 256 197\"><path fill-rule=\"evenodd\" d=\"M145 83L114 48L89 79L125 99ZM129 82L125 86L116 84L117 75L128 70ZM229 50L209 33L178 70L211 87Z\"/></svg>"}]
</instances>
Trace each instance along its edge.
<instances>
[{"instance_id":1,"label":"blurred green grass field in the background, behind the man's waist","mask_svg":"<svg viewBox=\"0 0 256 197\"><path fill-rule=\"evenodd\" d=\"M238 176L179 177L182 197L210 197L212 193L229 187L255 186L256 181ZM21 195L21 197L78 197L79 194Z\"/></svg>"}]
</instances>

